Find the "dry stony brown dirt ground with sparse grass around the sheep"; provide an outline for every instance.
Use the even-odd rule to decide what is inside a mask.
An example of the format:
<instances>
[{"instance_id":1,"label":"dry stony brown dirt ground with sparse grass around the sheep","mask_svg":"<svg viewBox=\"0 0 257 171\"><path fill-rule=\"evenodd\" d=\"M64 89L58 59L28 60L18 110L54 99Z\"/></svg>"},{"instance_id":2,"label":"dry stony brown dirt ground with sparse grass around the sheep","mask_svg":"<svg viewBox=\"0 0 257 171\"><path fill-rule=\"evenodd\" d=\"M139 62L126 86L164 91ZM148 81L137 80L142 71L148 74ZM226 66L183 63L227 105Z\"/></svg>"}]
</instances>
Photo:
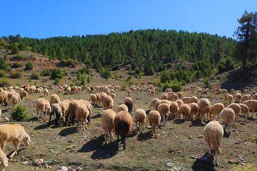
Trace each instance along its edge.
<instances>
[{"instance_id":1,"label":"dry stony brown dirt ground with sparse grass around the sheep","mask_svg":"<svg viewBox=\"0 0 257 171\"><path fill-rule=\"evenodd\" d=\"M152 78L147 78L147 80ZM26 79L13 82L25 83ZM38 81L38 84L40 81ZM121 84L114 79L104 80L94 77L90 85ZM50 90L50 94L57 90ZM126 97L125 91L116 91L115 108L123 103ZM194 92L182 92L183 96L196 95ZM159 98L161 93L151 97L143 90L131 97L135 101L135 109L146 109L153 98ZM79 95L60 95L65 99L89 99L89 93L85 91ZM219 154L219 166L214 167L211 159L205 157L208 149L203 139L203 130L206 123L182 122L180 120L169 120L165 126L158 129L157 138L152 138L150 129L145 128L142 133L135 135L135 124L127 138L127 148L115 151L116 137L113 142L104 145L104 131L101 128L101 107L93 107L94 116L85 132L77 132L74 126L58 126L53 124L48 127L47 123L38 121L34 102L42 97L42 94L29 95L22 100L26 105L32 118L29 122L21 122L31 137L31 144L25 148L21 145L20 150L12 160L9 161L6 170L57 170L61 166L78 167L84 170L256 170L257 169L257 144L251 138L257 136L257 116L254 113L249 122L240 117L240 123L232 125L230 136L223 138L222 152ZM199 98L202 95L197 95ZM222 95L207 95L212 103L224 102ZM2 107L2 118L11 119L11 106ZM135 111L135 110L134 110ZM134 112L133 112L134 113ZM250 114L250 116L252 113ZM148 122L148 121L147 121ZM15 123L14 121L1 121L1 124ZM222 123L222 122L220 122ZM147 124L148 125L148 124ZM13 143L8 143L6 152L14 150ZM33 161L43 158L44 164L34 166ZM228 163L230 159L238 161L243 158L245 162L236 164ZM24 161L28 161L27 163ZM26 163L23 164L22 162ZM243 164L248 165L248 167ZM255 166L254 166L255 164ZM238 169L240 170L240 169Z\"/></svg>"}]
</instances>

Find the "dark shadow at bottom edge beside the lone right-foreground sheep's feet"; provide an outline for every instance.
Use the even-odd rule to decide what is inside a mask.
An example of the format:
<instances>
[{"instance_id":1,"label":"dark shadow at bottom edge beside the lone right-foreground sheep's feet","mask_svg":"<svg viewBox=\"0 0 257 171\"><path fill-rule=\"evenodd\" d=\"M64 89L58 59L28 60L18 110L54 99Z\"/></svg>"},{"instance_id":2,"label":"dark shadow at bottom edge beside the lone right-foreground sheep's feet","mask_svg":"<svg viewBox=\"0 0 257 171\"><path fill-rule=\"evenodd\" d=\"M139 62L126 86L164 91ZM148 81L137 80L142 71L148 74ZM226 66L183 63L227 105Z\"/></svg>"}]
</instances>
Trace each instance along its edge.
<instances>
[{"instance_id":1,"label":"dark shadow at bottom edge beside the lone right-foreground sheep's feet","mask_svg":"<svg viewBox=\"0 0 257 171\"><path fill-rule=\"evenodd\" d=\"M213 156L215 150L212 150ZM208 157L208 151L201 157L198 158L194 164L191 166L192 170L194 171L204 171L204 170L216 170L214 168L213 159L214 157Z\"/></svg>"}]
</instances>

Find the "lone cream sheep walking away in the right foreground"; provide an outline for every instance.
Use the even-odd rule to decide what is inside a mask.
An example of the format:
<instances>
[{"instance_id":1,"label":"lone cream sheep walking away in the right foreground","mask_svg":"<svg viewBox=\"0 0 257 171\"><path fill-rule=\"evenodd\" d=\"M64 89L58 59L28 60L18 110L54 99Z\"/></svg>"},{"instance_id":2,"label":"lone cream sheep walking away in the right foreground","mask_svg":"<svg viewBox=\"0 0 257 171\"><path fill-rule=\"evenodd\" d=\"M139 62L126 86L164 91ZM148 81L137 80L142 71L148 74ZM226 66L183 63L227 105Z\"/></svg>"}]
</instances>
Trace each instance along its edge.
<instances>
[{"instance_id":1,"label":"lone cream sheep walking away in the right foreground","mask_svg":"<svg viewBox=\"0 0 257 171\"><path fill-rule=\"evenodd\" d=\"M204 129L204 138L205 141L208 142L208 146L209 146L209 152L208 152L208 156L212 156L212 150L215 150L215 165L218 166L218 153L221 152L220 150L220 146L221 146L221 141L222 141L222 137L224 134L224 130L223 127L221 126L221 124L218 121L211 121L209 122L205 129Z\"/></svg>"}]
</instances>

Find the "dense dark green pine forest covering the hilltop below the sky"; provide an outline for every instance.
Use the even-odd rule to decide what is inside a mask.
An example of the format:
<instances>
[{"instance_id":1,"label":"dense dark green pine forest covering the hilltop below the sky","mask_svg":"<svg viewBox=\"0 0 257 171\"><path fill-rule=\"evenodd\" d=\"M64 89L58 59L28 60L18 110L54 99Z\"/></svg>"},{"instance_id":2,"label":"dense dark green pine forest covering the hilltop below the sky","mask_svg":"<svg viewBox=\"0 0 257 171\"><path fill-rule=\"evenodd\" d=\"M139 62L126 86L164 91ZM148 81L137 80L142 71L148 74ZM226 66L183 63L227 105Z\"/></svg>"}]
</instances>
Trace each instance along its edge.
<instances>
[{"instance_id":1,"label":"dense dark green pine forest covering the hilltop below the sky","mask_svg":"<svg viewBox=\"0 0 257 171\"><path fill-rule=\"evenodd\" d=\"M54 59L84 62L88 67L124 64L169 63L177 59L189 62L210 61L212 64L231 56L236 41L207 33L175 30L138 30L107 35L21 38L2 37L1 46L31 50Z\"/></svg>"}]
</instances>

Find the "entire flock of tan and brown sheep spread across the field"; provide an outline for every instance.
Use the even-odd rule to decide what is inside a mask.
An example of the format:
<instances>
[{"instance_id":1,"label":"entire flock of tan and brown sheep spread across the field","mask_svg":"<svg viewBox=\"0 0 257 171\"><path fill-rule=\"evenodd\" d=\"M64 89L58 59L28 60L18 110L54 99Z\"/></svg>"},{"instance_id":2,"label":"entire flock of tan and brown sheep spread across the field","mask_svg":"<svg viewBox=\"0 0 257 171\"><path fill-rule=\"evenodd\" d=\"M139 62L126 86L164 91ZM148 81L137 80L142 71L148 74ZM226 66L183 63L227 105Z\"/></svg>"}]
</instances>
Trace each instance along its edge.
<instances>
[{"instance_id":1,"label":"entire flock of tan and brown sheep spread across the field","mask_svg":"<svg viewBox=\"0 0 257 171\"><path fill-rule=\"evenodd\" d=\"M53 85L49 89L56 89ZM57 94L79 94L83 92L83 89L91 94L89 100L63 100ZM154 98L151 101L150 106L144 109L135 110L134 118L131 113L135 109L135 104L130 94L135 92L145 90L150 96L156 96L155 92L159 91L158 87L148 84L145 85L130 85L126 87L124 91L127 93L127 97L124 99L124 103L119 105L116 112L114 111L114 100L115 92L121 91L118 85L103 85L96 87L83 87L74 86L69 87L68 85L61 85L57 87L57 94L50 95L50 101L43 98L37 99L35 102L35 108L37 111L37 117L42 117L45 121L49 115L48 125L50 126L51 116L54 117L55 125L59 125L60 121L63 121L63 125L67 125L67 122L74 124L75 119L77 120L78 131L87 129L87 123L90 122L91 116L93 115L92 106L101 105L103 112L101 114L101 126L104 130L105 143L107 143L107 138L110 141L113 140L113 132L117 136L117 150L119 147L119 137L121 138L121 143L123 144L123 149L126 148L126 136L130 133L132 129L133 122L136 124L135 133L139 130L145 128L146 120L148 118L149 125L151 126L151 134L156 138L157 129L160 126L165 126L168 122L168 118L171 119L181 119L183 117L184 121L197 120L202 122L202 120L207 120L209 123L204 129L204 138L208 142L209 146L209 156L212 156L211 149L215 150L215 165L218 165L218 153L220 152L221 139L224 134L222 125L218 122L221 118L224 123L225 132L228 129L228 133L231 131L231 123L236 119L239 122L239 115L245 115L245 120L247 120L249 111L257 111L257 94L251 92L247 94L247 90L234 91L230 90L228 94L227 90L221 90L214 88L212 91L209 89L196 88L195 85L191 85L190 88L184 88L183 91L195 91L197 94L226 94L225 99L229 101L230 105L225 107L222 103L216 103L211 105L207 98L198 99L196 96L183 97L183 93L174 93L172 89L166 89L164 93L161 94L160 98ZM19 93L16 93L19 92ZM21 102L23 98L26 98L28 94L43 93L44 96L49 96L49 91L46 88L35 87L34 85L22 85L21 87L9 87L0 89L0 103L1 105L10 104L15 107ZM235 99L238 103L232 103ZM2 113L2 112L1 112ZM207 116L206 116L207 115ZM25 145L29 145L30 137L26 131L19 124L3 124L0 125L0 160L2 164L0 165L0 170L8 165L8 158L4 154L5 145L7 142L13 142L15 145L15 151L10 156L13 157L18 150L19 143L24 142Z\"/></svg>"}]
</instances>

